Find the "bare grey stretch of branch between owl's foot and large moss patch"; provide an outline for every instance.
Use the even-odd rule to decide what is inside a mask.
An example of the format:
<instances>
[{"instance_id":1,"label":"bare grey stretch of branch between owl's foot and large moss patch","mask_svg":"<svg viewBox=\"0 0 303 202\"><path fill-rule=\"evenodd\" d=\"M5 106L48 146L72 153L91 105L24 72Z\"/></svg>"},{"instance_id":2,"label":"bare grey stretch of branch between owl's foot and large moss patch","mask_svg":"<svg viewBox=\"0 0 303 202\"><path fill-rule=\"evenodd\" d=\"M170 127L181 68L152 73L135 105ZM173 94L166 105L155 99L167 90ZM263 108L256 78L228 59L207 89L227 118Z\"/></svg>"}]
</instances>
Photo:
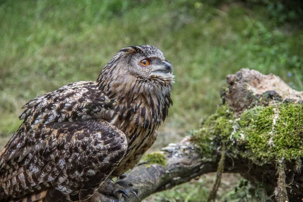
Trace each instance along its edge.
<instances>
[{"instance_id":1,"label":"bare grey stretch of branch between owl's foot and large moss patch","mask_svg":"<svg viewBox=\"0 0 303 202\"><path fill-rule=\"evenodd\" d=\"M170 189L202 174L215 172L217 161L201 158L194 148L195 146L190 141L169 144L161 150L167 159L165 166L141 164L130 170L126 178L116 182L125 188L134 190L138 194L137 198L134 195L130 195L130 199L117 199L110 195L107 197L112 201L141 201L155 192Z\"/></svg>"}]
</instances>

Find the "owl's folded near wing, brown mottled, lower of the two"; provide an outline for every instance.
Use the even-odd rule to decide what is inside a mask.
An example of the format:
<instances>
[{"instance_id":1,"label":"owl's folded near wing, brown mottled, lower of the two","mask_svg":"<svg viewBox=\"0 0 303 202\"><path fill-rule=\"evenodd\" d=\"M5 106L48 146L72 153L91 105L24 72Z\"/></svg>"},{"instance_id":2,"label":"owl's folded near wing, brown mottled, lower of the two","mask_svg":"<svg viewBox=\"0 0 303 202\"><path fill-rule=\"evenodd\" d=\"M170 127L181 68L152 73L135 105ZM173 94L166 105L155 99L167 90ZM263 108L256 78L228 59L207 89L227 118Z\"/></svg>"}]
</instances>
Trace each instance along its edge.
<instances>
[{"instance_id":1,"label":"owl's folded near wing, brown mottled, lower of the two","mask_svg":"<svg viewBox=\"0 0 303 202\"><path fill-rule=\"evenodd\" d=\"M58 198L55 190L73 200L87 199L127 149L125 134L104 120L52 122L19 133L0 157L3 197Z\"/></svg>"}]
</instances>

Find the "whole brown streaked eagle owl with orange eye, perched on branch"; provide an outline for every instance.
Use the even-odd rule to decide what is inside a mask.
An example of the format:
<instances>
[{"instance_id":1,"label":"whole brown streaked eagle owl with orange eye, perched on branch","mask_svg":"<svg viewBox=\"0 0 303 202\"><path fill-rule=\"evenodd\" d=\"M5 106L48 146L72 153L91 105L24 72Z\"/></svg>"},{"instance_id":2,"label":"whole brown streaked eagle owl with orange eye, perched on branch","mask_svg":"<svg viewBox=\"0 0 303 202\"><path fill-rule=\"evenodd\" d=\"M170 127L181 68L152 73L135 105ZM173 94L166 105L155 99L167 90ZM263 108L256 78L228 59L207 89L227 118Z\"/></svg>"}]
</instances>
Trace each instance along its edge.
<instances>
[{"instance_id":1,"label":"whole brown streaked eagle owl with orange eye, perched on branch","mask_svg":"<svg viewBox=\"0 0 303 202\"><path fill-rule=\"evenodd\" d=\"M173 82L158 48L129 46L96 81L30 100L0 154L0 199L91 201L108 192L115 187L109 178L134 167L154 143L172 105Z\"/></svg>"}]
</instances>

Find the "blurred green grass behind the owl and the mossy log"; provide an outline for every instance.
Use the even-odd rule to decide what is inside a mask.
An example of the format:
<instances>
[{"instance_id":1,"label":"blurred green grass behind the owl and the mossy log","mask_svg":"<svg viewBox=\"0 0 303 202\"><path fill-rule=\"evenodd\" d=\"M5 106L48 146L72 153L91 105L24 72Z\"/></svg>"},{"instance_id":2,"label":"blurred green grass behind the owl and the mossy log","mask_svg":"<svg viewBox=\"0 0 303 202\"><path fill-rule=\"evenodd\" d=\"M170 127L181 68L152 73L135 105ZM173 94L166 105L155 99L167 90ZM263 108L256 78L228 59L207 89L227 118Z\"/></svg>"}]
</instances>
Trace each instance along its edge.
<instances>
[{"instance_id":1,"label":"blurred green grass behind the owl and the mossy log","mask_svg":"<svg viewBox=\"0 0 303 202\"><path fill-rule=\"evenodd\" d=\"M226 75L240 68L274 73L303 90L301 24L277 27L268 16L258 5L193 0L0 2L0 145L20 125L28 100L69 82L95 80L127 45L159 47L176 75L174 106L154 148L197 128L220 103ZM195 189L182 190L185 196L176 201Z\"/></svg>"}]
</instances>

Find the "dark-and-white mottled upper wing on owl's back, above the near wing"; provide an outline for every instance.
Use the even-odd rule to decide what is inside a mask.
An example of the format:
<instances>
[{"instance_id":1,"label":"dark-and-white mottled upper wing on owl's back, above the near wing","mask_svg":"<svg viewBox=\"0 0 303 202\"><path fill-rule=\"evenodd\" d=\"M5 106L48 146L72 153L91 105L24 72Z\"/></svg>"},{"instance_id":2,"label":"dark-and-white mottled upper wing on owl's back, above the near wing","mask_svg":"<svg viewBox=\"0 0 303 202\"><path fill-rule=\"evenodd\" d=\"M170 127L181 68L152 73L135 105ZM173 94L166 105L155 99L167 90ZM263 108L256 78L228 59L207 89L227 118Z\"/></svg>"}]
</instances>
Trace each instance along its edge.
<instances>
[{"instance_id":1,"label":"dark-and-white mottled upper wing on owl's back, above the near wing","mask_svg":"<svg viewBox=\"0 0 303 202\"><path fill-rule=\"evenodd\" d=\"M19 118L24 119L26 127L86 120L110 109L113 103L114 100L98 89L96 82L80 81L30 100L23 106L25 111Z\"/></svg>"}]
</instances>

